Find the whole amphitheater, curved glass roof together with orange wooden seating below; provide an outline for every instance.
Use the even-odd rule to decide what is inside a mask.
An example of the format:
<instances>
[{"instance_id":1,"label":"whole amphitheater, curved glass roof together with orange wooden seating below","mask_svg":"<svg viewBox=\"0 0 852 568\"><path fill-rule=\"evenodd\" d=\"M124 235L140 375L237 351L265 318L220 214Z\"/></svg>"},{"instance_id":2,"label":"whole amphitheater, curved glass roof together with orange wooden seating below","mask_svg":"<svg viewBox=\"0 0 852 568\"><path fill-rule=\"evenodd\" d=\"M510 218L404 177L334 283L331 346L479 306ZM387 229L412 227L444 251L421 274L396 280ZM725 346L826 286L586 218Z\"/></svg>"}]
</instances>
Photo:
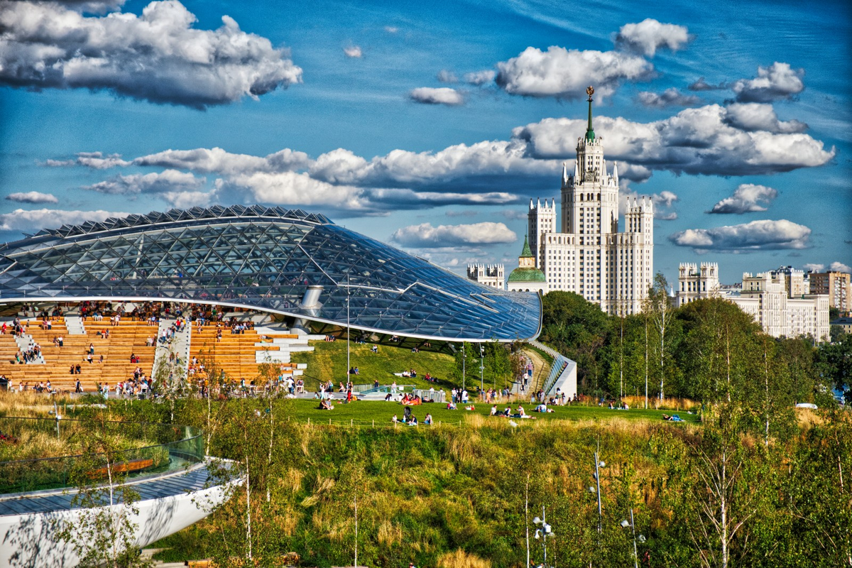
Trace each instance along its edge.
<instances>
[{"instance_id":1,"label":"whole amphitheater, curved glass roof together with orange wooden seating below","mask_svg":"<svg viewBox=\"0 0 852 568\"><path fill-rule=\"evenodd\" d=\"M541 328L536 294L482 286L324 215L261 206L130 215L4 244L0 310L0 375L58 391L156 376L164 358L190 378L250 382L263 362L298 376L290 353L326 336L453 353ZM153 346L178 310L187 325L168 349Z\"/></svg>"}]
</instances>

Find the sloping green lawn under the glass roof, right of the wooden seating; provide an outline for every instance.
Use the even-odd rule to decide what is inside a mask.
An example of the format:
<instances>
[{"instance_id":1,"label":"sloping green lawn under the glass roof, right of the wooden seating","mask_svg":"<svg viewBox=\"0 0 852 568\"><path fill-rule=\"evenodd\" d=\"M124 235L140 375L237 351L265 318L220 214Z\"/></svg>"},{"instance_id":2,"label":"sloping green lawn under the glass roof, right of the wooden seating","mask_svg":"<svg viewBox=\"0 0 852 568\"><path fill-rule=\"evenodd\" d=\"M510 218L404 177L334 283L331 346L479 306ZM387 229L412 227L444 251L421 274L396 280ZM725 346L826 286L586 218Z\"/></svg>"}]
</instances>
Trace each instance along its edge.
<instances>
[{"instance_id":1,"label":"sloping green lawn under the glass roof, right of the wooden seating","mask_svg":"<svg viewBox=\"0 0 852 568\"><path fill-rule=\"evenodd\" d=\"M311 343L314 352L293 353L293 363L307 363L305 371L305 387L313 391L319 381L338 382L346 380L346 341L314 341ZM352 376L354 384L372 384L374 379L382 385L396 381L398 384L415 385L418 388L435 387L449 391L454 385L450 382L450 373L455 367L455 360L445 353L421 351L412 353L411 349L401 347L379 346L378 353L372 353L371 345L351 344L350 366L358 367L359 375ZM476 368L479 369L478 362ZM417 378L394 376L404 370L416 370ZM423 376L437 377L438 382L423 381ZM473 377L469 373L469 379ZM477 375L477 378L479 376Z\"/></svg>"}]
</instances>

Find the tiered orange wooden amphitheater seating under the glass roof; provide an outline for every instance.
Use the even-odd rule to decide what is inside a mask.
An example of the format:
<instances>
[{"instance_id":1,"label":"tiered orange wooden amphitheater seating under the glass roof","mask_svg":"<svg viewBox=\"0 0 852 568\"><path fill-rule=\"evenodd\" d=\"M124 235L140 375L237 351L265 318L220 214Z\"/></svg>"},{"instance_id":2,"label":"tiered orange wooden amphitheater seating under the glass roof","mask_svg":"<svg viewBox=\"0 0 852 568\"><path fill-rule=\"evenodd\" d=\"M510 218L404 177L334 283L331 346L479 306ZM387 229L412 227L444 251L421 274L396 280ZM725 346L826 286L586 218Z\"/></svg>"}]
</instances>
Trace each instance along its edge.
<instances>
[{"instance_id":1,"label":"tiered orange wooden amphitheater seating under the glass roof","mask_svg":"<svg viewBox=\"0 0 852 568\"><path fill-rule=\"evenodd\" d=\"M118 320L118 325L112 324L113 314L130 313L126 307L133 307L133 304L107 302L101 308L100 317L81 317L78 304L63 305L63 315L48 318L34 317L32 311L20 311L17 318L26 326L26 331L16 337L9 326L7 333L0 334L0 375L9 380L10 390L32 390L39 383L50 382L55 393L74 392L78 381L84 393L95 392L101 383L109 385L114 392L118 382L129 380L137 370L142 376L157 376L158 358L165 359L170 353L168 347L157 347L157 338L176 319L158 318L152 325L149 317L125 315ZM212 307L202 307L207 308L209 317ZM231 318L246 325L246 329L232 333L227 325ZM239 383L243 379L252 382L262 363L273 364L275 376L282 379L300 376L305 365L291 363L290 354L313 350L309 342L325 339L323 335L311 335L302 330L296 333L279 326L261 325L273 324L264 313L240 310L226 313L223 320L226 324L218 326L215 320L208 320L201 327L187 324L186 329L177 334L179 341L172 341L172 345L179 346L176 347L180 350L177 355L185 376L195 383L210 378L210 370L216 370L220 378L232 382ZM48 321L50 329L45 324ZM104 334L104 330L109 333ZM217 330L222 330L218 339ZM60 337L61 347L55 341ZM19 363L16 355L34 345L40 347L41 356ZM94 347L93 363L87 359L89 346ZM79 373L72 373L71 370L78 366Z\"/></svg>"}]
</instances>

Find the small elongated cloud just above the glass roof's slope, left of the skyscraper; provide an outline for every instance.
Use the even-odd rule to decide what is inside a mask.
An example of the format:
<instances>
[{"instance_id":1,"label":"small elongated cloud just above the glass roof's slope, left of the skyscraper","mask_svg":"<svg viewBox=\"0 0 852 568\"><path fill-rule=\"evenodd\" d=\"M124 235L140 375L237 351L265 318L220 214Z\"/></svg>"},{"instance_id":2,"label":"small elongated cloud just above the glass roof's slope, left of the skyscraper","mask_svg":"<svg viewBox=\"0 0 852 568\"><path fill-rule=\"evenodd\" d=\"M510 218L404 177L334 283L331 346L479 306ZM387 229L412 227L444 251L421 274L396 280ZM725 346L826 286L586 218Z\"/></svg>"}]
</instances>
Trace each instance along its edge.
<instances>
[{"instance_id":1,"label":"small elongated cloud just above the glass roof's slope, left of the skyscraper","mask_svg":"<svg viewBox=\"0 0 852 568\"><path fill-rule=\"evenodd\" d=\"M517 235L504 223L482 222L438 227L423 223L397 229L390 238L408 247L443 248L464 244L514 243Z\"/></svg>"}]
</instances>

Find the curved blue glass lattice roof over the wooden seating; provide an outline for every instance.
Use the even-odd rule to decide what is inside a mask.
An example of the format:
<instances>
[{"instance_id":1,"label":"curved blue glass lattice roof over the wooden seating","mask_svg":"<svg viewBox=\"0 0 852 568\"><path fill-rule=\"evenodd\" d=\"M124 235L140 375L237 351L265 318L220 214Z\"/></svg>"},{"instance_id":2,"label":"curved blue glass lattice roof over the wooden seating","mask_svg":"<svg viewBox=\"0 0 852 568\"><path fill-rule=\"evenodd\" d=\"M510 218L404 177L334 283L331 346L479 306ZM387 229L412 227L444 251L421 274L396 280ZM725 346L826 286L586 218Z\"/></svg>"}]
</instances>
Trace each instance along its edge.
<instances>
[{"instance_id":1,"label":"curved blue glass lattice roof over the wooden seating","mask_svg":"<svg viewBox=\"0 0 852 568\"><path fill-rule=\"evenodd\" d=\"M318 303L303 306L308 286ZM538 295L487 288L299 209L211 207L45 230L0 247L0 300L197 301L449 341L538 335Z\"/></svg>"}]
</instances>

